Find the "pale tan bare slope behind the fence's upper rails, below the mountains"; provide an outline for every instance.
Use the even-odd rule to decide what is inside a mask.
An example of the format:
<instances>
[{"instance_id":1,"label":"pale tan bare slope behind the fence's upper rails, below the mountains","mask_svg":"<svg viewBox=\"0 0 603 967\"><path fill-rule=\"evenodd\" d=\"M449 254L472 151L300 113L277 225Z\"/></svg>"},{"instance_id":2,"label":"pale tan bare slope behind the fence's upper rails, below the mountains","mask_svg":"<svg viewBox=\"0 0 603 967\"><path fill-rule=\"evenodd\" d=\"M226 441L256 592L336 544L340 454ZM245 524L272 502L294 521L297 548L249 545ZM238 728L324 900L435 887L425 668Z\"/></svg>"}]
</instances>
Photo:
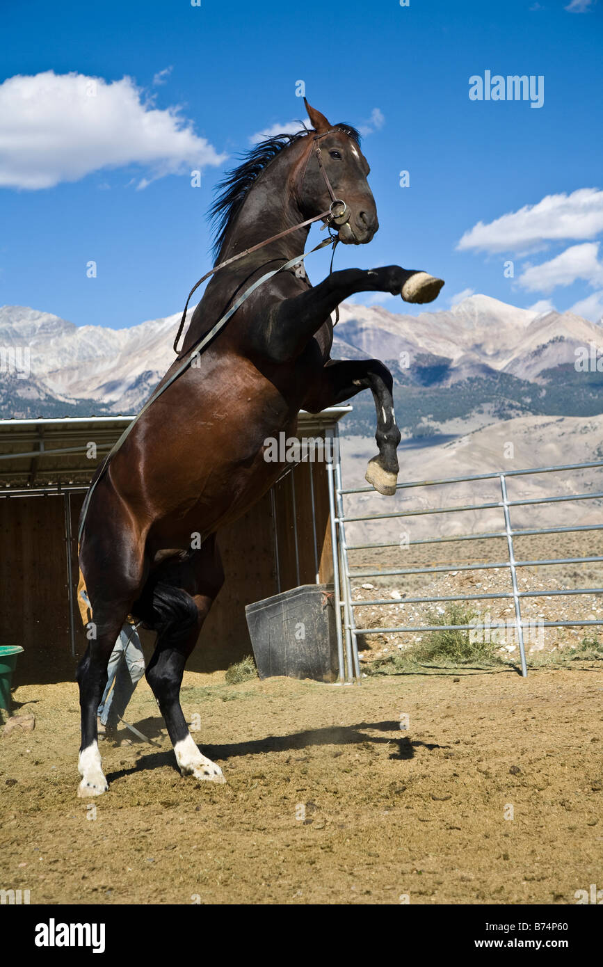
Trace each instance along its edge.
<instances>
[{"instance_id":1,"label":"pale tan bare slope behind the fence's upper rails, below the mountains","mask_svg":"<svg viewBox=\"0 0 603 967\"><path fill-rule=\"evenodd\" d=\"M433 481L469 477L490 472L510 472L533 466L562 466L603 460L603 416L518 417L495 425L465 432L443 443L418 447L415 441L402 445L398 459L399 480ZM376 446L366 436L346 436L341 440L341 454L346 487L366 486L366 463L376 453ZM527 500L546 495L559 496L603 490L602 468L559 471L553 474L511 476L507 479L509 500ZM427 508L462 506L501 501L498 479L473 483L444 484L398 490L394 497L382 497L369 491L346 498L346 513L391 513ZM546 527L559 523L586 525L603 523L603 501L567 501L558 505L535 505L513 508L513 527ZM399 534L408 533L409 540L452 534L500 532L504 528L502 510L425 514L418 517L371 521L369 525L348 525L349 540L362 536L368 541L394 542Z\"/></svg>"}]
</instances>

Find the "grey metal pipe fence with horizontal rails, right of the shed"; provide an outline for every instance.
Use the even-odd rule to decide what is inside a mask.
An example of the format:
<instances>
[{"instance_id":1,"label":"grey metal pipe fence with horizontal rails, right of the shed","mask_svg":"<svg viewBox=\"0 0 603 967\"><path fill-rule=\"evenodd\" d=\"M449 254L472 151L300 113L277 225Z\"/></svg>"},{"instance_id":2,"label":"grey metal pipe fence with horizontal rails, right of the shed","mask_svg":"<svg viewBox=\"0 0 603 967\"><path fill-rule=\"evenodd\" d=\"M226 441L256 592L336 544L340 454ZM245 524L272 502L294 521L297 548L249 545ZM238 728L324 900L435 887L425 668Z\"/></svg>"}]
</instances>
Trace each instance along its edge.
<instances>
[{"instance_id":1,"label":"grey metal pipe fence with horizontal rails, right of the shed","mask_svg":"<svg viewBox=\"0 0 603 967\"><path fill-rule=\"evenodd\" d=\"M489 501L480 504L469 504L469 505L453 505L453 506L439 506L436 508L419 508L411 511L392 511L390 513L363 513L363 514L346 514L344 511L344 497L350 494L361 494L361 493L373 493L373 488L371 486L361 486L361 487L343 487L341 484L341 467L337 463L333 468L333 495L332 495L332 506L331 513L333 509L336 510L336 517L333 521L333 533L336 534L338 549L333 552L333 559L336 559L338 567L335 569L335 588L338 590L336 598L336 604L339 605L341 609L341 633L345 635L346 640L346 679L348 681L357 680L359 681L359 649L358 649L358 636L359 634L384 634L384 633L404 633L404 632L420 632L420 631L444 631L444 630L470 630L474 629L474 625L411 625L411 626L397 626L393 628L388 628L385 626L374 627L374 628L358 628L355 621L354 609L357 607L366 607L369 605L381 606L381 605L391 605L393 602L391 599L376 598L373 600L352 600L352 579L358 577L383 577L389 575L404 575L404 574L439 574L449 571L487 571L487 570L501 570L505 569L508 571L510 578L510 589L508 592L496 592L491 594L475 594L475 595L446 595L446 596L419 596L415 598L404 598L400 599L398 603L410 604L410 603L437 603L443 601L486 601L486 600L508 600L513 602L515 619L511 624L517 634L517 640L519 644L519 651L521 656L521 673L525 677L528 674L528 667L526 661L526 648L524 640L524 630L526 628L533 627L533 620L526 621L522 617L521 612L521 602L527 598L553 598L560 596L579 596L586 594L603 594L603 588L592 587L592 588L576 588L576 589L561 589L554 588L547 591L520 591L517 583L517 571L519 568L531 568L531 567L546 567L550 565L576 565L576 564L593 564L603 562L603 555L589 555L585 557L566 557L566 558L545 558L542 560L517 560L515 557L515 546L514 539L526 536L540 536L547 534L571 534L580 533L586 531L597 531L603 530L603 523L601 524L584 524L576 526L565 526L561 524L559 527L531 527L531 528L519 528L515 529L511 524L511 508L518 507L530 507L532 505L542 505L542 504L563 504L567 501L583 501L583 500L598 500L603 497L603 493L600 491L593 491L589 493L577 493L577 494L564 494L564 495L552 495L543 496L536 498L528 498L525 500L509 500L507 494L506 481L509 477L529 477L535 474L551 474L551 473L562 473L575 470L585 470L603 467L603 460L593 460L585 463L572 463L572 464L562 464L559 466L546 466L546 467L531 467L525 470L509 470L500 471L487 474L476 474L467 477L448 477L441 480L425 480L425 481L413 481L405 484L397 484L396 490L410 490L415 487L427 487L427 486L443 486L446 484L468 484L475 483L478 481L499 481L501 487L501 500L500 501ZM363 549L385 549L389 547L399 546L399 542L368 542L368 543L357 543L348 544L346 542L345 527L348 523L355 523L358 521L388 521L401 517L418 517L427 514L435 513L459 513L462 511L486 511L499 509L502 511L504 528L501 531L493 531L487 533L478 534L465 534L457 536L444 536L435 537L428 539L421 539L417 541L409 541L405 543L405 547L415 546L419 544L439 544L445 542L455 542L455 541L487 541L492 539L504 539L506 541L507 548L507 559L505 561L498 562L485 562L479 564L449 564L445 566L433 566L433 567L415 567L415 568L372 568L368 570L354 570L350 569L349 564L349 552L353 550L363 550ZM339 573L337 573L339 571ZM591 627L591 626L602 626L603 620L590 620L590 619L571 619L567 621L542 621L539 622L539 627L543 628L570 628L570 627ZM508 622L491 622L491 628L508 628Z\"/></svg>"}]
</instances>

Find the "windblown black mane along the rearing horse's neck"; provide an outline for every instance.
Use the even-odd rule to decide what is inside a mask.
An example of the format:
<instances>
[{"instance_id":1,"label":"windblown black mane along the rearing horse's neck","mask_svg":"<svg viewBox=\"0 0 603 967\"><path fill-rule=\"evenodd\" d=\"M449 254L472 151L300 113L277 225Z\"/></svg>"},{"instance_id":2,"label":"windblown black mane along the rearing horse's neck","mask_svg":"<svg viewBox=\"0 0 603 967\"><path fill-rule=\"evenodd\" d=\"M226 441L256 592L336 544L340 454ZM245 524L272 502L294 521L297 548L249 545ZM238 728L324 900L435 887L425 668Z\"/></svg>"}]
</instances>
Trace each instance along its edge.
<instances>
[{"instance_id":1,"label":"windblown black mane along the rearing horse's neck","mask_svg":"<svg viewBox=\"0 0 603 967\"><path fill-rule=\"evenodd\" d=\"M336 124L333 125L333 128L345 132L357 144L360 143L359 132L352 125ZM247 192L264 168L284 148L288 148L290 144L294 144L300 138L311 133L314 133L312 129L303 128L302 131L295 134L274 134L273 137L260 141L250 151L239 155L242 163L231 171L227 171L222 181L218 182L215 190L219 193L209 211L215 233L213 245L215 258L219 256L224 245L228 229L241 211Z\"/></svg>"}]
</instances>

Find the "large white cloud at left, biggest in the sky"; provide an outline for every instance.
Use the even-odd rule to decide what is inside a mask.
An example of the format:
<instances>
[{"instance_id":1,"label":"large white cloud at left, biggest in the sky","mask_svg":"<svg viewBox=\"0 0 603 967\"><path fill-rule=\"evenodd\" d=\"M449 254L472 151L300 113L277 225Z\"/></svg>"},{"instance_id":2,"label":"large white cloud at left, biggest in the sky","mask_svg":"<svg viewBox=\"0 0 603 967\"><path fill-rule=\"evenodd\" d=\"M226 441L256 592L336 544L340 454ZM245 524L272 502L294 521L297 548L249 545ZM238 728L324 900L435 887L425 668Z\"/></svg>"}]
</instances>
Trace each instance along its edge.
<instances>
[{"instance_id":1,"label":"large white cloud at left, biggest in the sky","mask_svg":"<svg viewBox=\"0 0 603 967\"><path fill-rule=\"evenodd\" d=\"M101 168L140 164L139 188L167 174L220 164L224 155L182 117L142 101L130 77L20 74L0 84L0 186L52 188Z\"/></svg>"}]
</instances>

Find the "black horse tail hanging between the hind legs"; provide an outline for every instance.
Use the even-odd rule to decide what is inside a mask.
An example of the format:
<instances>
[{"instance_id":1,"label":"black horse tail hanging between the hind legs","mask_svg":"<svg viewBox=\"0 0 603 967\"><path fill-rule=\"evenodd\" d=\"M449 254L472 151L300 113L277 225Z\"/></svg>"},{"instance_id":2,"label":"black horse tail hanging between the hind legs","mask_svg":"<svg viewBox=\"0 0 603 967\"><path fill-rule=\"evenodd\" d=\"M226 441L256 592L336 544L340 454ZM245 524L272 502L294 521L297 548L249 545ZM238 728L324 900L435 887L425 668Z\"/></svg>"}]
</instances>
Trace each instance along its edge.
<instances>
[{"instance_id":1,"label":"black horse tail hanging between the hind legs","mask_svg":"<svg viewBox=\"0 0 603 967\"><path fill-rule=\"evenodd\" d=\"M157 631L159 637L169 638L174 644L187 638L199 620L197 605L184 588L174 583L176 577L159 569L149 577L130 608L132 617L141 621L143 628Z\"/></svg>"}]
</instances>

